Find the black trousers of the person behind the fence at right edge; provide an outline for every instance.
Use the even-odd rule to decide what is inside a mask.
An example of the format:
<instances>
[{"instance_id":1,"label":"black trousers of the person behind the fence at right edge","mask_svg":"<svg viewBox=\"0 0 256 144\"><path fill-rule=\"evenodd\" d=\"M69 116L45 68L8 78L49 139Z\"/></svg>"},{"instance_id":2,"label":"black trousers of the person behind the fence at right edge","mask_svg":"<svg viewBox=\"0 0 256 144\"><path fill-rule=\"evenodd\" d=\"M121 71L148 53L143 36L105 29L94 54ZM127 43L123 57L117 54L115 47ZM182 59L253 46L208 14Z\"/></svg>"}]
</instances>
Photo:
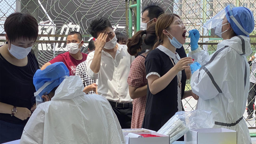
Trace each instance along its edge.
<instances>
[{"instance_id":1,"label":"black trousers of the person behind the fence at right edge","mask_svg":"<svg viewBox=\"0 0 256 144\"><path fill-rule=\"evenodd\" d=\"M255 95L256 95L256 84L250 82L250 89L249 94L247 98L247 114L251 115L253 113L253 104L255 102ZM256 114L256 112L255 112Z\"/></svg>"}]
</instances>

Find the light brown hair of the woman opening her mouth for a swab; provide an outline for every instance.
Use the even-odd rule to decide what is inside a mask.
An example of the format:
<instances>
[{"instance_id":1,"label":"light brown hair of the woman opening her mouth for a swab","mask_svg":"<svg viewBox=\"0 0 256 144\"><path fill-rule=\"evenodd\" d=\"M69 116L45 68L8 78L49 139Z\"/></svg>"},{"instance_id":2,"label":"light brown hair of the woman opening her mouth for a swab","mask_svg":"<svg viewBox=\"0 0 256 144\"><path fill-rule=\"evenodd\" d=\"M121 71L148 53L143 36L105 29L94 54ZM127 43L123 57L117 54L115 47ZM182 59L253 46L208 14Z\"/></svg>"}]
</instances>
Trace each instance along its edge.
<instances>
[{"instance_id":1,"label":"light brown hair of the woman opening her mouth for a swab","mask_svg":"<svg viewBox=\"0 0 256 144\"><path fill-rule=\"evenodd\" d=\"M155 33L157 35L158 41L155 43L153 49L163 44L163 39L165 36L165 34L163 34L163 30L167 30L169 28L175 16L181 19L177 14L164 13L158 17L157 22L155 24Z\"/></svg>"}]
</instances>

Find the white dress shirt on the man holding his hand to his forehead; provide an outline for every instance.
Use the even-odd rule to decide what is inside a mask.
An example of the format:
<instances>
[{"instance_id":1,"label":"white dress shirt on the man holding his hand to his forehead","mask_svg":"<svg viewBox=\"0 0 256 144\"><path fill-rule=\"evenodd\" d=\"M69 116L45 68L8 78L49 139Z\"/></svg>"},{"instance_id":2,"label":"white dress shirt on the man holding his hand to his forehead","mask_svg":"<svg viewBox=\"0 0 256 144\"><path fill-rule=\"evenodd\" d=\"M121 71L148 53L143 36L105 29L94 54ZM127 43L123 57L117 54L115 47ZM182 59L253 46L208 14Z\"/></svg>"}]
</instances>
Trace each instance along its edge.
<instances>
[{"instance_id":1,"label":"white dress shirt on the man holding his hand to his forehead","mask_svg":"<svg viewBox=\"0 0 256 144\"><path fill-rule=\"evenodd\" d=\"M127 78L131 62L134 56L127 52L127 48L118 45L115 59L102 50L101 67L98 73L90 69L95 51L87 56L87 75L91 79L98 79L98 94L114 102L129 103L132 101L129 95Z\"/></svg>"}]
</instances>

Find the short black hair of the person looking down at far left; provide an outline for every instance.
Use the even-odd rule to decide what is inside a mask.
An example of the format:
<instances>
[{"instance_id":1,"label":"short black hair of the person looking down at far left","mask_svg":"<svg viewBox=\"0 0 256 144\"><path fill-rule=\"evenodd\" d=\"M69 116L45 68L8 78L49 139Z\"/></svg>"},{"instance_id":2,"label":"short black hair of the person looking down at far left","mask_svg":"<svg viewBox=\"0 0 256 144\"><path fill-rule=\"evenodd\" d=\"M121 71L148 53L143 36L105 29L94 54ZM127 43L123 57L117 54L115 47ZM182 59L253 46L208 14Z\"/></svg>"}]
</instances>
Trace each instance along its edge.
<instances>
[{"instance_id":1,"label":"short black hair of the person looking down at far left","mask_svg":"<svg viewBox=\"0 0 256 144\"><path fill-rule=\"evenodd\" d=\"M14 42L17 39L35 41L38 36L38 23L31 14L10 14L5 20L4 29L10 42Z\"/></svg>"}]
</instances>

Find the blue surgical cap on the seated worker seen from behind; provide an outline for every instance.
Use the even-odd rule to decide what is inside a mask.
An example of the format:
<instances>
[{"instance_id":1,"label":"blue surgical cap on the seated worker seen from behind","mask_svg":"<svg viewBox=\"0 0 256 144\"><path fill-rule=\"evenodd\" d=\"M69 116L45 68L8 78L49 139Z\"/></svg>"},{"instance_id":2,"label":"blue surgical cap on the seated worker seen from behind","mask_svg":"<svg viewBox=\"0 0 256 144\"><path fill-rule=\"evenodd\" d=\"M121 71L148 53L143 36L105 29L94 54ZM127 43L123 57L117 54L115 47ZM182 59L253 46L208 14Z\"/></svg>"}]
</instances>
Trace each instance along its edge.
<instances>
[{"instance_id":1,"label":"blue surgical cap on the seated worker seen from behind","mask_svg":"<svg viewBox=\"0 0 256 144\"><path fill-rule=\"evenodd\" d=\"M69 70L63 62L55 62L47 66L44 70L37 70L33 77L35 90L37 91L46 82L51 81L52 83L46 86L38 95L42 97L42 95L49 94L54 87L61 84L65 76L69 76Z\"/></svg>"}]
</instances>

